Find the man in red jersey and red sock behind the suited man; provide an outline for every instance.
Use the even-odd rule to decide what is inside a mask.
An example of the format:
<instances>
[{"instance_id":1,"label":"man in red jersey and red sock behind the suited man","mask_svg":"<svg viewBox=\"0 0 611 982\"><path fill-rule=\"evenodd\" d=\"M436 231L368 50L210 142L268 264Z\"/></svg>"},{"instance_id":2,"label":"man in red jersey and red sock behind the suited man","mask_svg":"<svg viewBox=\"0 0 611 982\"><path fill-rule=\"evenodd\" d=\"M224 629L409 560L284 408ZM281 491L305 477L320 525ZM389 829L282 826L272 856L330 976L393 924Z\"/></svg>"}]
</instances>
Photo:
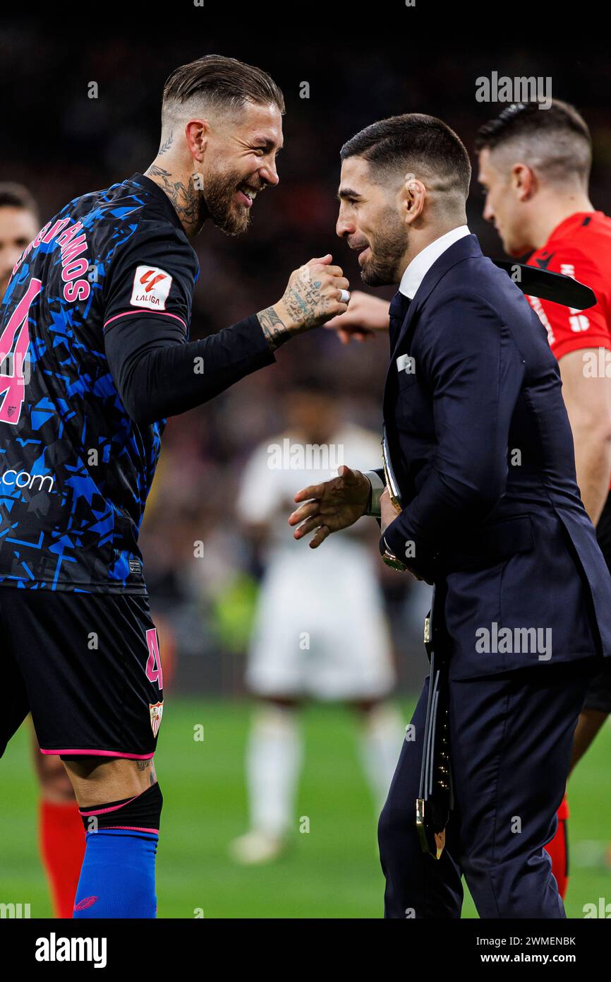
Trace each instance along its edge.
<instances>
[{"instance_id":1,"label":"man in red jersey and red sock behind the suited man","mask_svg":"<svg viewBox=\"0 0 611 982\"><path fill-rule=\"evenodd\" d=\"M588 196L591 140L573 106L553 100L510 106L479 131L484 218L511 256L572 276L596 294L584 311L529 298L547 331L562 376L586 512L611 571L611 218ZM606 366L609 364L609 368ZM602 368L601 368L602 366ZM611 670L591 682L575 732L571 770L611 712ZM568 876L566 795L548 843L564 898Z\"/></svg>"}]
</instances>

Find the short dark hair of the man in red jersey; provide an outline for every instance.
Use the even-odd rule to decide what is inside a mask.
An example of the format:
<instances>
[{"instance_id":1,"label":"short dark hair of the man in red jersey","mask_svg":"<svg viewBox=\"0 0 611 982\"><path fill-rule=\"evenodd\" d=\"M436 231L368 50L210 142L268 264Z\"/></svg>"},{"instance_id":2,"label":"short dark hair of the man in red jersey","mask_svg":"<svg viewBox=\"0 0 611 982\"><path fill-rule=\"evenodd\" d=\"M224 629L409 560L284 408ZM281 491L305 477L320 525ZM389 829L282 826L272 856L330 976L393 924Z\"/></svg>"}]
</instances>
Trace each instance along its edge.
<instances>
[{"instance_id":1,"label":"short dark hair of the man in red jersey","mask_svg":"<svg viewBox=\"0 0 611 982\"><path fill-rule=\"evenodd\" d=\"M475 146L480 152L510 142L521 144L521 152L530 150L535 166L550 180L577 176L587 181L591 136L586 120L568 102L552 99L548 109L539 109L536 101L513 103L480 127Z\"/></svg>"}]
</instances>

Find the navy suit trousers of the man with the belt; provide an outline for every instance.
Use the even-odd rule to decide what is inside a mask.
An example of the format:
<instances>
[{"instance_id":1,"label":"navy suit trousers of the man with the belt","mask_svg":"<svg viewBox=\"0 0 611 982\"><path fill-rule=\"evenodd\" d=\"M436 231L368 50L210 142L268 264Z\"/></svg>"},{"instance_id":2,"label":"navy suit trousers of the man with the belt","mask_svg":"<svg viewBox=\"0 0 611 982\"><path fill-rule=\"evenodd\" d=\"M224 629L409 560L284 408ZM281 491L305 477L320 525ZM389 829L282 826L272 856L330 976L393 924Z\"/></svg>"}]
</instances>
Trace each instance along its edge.
<instances>
[{"instance_id":1,"label":"navy suit trousers of the man with the belt","mask_svg":"<svg viewBox=\"0 0 611 982\"><path fill-rule=\"evenodd\" d=\"M385 917L460 917L461 875L481 917L566 917L543 846L556 831L577 719L599 669L588 658L450 680L455 809L438 860L422 851L415 826L426 680L380 818Z\"/></svg>"}]
</instances>

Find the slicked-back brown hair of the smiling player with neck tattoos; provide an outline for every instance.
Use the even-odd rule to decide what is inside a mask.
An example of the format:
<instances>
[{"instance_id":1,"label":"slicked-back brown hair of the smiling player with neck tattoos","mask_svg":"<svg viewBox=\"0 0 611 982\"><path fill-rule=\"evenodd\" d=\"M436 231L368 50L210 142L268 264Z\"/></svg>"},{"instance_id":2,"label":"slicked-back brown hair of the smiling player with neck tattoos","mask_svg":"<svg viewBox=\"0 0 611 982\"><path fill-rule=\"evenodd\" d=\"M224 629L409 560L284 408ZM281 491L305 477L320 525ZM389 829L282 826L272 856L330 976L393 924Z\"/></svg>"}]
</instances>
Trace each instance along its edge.
<instances>
[{"instance_id":1,"label":"slicked-back brown hair of the smiling player with neck tattoos","mask_svg":"<svg viewBox=\"0 0 611 982\"><path fill-rule=\"evenodd\" d=\"M215 108L237 111L246 102L273 103L284 112L284 96L260 68L223 55L205 55L175 69L164 85L164 106L201 96Z\"/></svg>"}]
</instances>

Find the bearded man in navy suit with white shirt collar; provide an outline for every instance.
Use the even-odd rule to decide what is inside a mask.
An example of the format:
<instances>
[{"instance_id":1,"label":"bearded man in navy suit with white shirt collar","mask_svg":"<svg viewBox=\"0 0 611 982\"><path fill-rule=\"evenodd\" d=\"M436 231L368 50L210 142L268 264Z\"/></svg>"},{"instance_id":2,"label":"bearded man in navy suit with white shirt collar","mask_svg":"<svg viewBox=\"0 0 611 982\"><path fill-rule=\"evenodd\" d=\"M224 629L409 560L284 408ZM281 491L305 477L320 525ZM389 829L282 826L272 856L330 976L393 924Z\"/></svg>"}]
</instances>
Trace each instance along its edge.
<instances>
[{"instance_id":1,"label":"bearded man in navy suit with white shirt collar","mask_svg":"<svg viewBox=\"0 0 611 982\"><path fill-rule=\"evenodd\" d=\"M393 117L341 159L337 234L365 283L399 284L383 398L395 503L380 472L343 467L295 496L289 522L317 548L379 506L382 558L443 587L450 643L446 847L423 852L415 825L427 680L380 820L385 915L459 917L464 875L482 917L562 918L543 846L587 683L611 657L611 585L558 365L467 228L471 167L453 131Z\"/></svg>"}]
</instances>

